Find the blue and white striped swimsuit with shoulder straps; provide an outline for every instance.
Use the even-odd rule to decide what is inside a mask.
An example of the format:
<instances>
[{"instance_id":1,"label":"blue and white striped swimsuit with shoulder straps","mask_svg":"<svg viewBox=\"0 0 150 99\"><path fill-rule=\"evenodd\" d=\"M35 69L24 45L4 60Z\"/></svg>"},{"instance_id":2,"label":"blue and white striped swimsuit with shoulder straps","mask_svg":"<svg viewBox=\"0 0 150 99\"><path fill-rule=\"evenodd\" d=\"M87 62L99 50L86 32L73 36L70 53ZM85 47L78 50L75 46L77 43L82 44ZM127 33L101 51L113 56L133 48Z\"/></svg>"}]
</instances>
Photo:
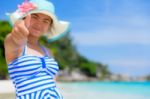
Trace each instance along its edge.
<instances>
[{"instance_id":1,"label":"blue and white striped swimsuit with shoulder straps","mask_svg":"<svg viewBox=\"0 0 150 99\"><path fill-rule=\"evenodd\" d=\"M8 71L16 90L16 99L63 99L56 87L54 76L59 67L41 47L45 56L26 54L24 47L20 57L8 64Z\"/></svg>"}]
</instances>

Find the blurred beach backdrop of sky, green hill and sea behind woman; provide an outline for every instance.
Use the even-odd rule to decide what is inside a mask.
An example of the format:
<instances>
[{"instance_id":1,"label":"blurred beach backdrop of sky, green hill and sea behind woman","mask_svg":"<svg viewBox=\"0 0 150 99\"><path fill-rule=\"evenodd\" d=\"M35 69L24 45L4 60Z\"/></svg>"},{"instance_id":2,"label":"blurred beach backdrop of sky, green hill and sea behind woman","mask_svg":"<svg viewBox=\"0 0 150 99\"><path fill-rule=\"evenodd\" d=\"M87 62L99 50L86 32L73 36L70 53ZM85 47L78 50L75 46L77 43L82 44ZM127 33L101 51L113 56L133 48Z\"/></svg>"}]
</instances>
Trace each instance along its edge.
<instances>
[{"instance_id":1,"label":"blurred beach backdrop of sky, green hill and sea behind woman","mask_svg":"<svg viewBox=\"0 0 150 99\"><path fill-rule=\"evenodd\" d=\"M12 29L6 13L24 0L0 3L0 99L14 99L4 58ZM50 0L71 23L64 38L41 43L60 64L64 99L150 99L150 0Z\"/></svg>"}]
</instances>

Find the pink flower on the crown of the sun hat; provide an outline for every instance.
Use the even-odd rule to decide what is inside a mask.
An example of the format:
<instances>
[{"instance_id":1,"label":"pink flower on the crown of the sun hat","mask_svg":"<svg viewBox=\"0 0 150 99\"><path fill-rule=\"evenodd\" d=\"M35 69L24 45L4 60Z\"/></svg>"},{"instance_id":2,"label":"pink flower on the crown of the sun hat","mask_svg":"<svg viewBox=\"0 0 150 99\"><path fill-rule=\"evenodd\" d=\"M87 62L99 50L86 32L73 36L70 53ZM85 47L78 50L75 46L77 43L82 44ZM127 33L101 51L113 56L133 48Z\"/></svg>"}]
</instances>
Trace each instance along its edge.
<instances>
[{"instance_id":1,"label":"pink flower on the crown of the sun hat","mask_svg":"<svg viewBox=\"0 0 150 99\"><path fill-rule=\"evenodd\" d=\"M36 6L31 2L25 1L21 5L18 5L18 9L21 12L21 14L25 14L30 10L36 9Z\"/></svg>"}]
</instances>

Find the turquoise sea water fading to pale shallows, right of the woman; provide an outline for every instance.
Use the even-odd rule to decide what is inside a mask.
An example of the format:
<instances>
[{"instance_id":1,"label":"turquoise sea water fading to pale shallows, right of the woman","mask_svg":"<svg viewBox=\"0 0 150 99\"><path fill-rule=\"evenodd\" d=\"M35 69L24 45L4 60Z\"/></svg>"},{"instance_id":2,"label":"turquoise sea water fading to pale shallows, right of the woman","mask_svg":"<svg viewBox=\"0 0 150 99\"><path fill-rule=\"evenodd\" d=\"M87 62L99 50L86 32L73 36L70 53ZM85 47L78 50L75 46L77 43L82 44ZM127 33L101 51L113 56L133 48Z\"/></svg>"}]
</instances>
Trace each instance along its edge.
<instances>
[{"instance_id":1,"label":"turquoise sea water fading to pale shallows, right of the woman","mask_svg":"<svg viewBox=\"0 0 150 99\"><path fill-rule=\"evenodd\" d=\"M64 99L150 99L150 82L72 82L58 85Z\"/></svg>"}]
</instances>

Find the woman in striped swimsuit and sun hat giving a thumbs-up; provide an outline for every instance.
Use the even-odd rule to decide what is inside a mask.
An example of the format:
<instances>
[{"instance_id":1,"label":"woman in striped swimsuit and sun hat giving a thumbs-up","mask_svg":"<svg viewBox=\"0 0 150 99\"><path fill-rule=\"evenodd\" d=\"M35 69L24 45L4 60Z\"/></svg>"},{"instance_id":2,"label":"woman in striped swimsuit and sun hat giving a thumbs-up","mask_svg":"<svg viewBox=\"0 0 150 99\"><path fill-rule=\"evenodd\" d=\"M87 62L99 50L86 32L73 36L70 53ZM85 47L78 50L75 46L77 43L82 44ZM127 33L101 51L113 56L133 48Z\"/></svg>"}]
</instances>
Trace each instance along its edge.
<instances>
[{"instance_id":1,"label":"woman in striped swimsuit and sun hat giving a thumbs-up","mask_svg":"<svg viewBox=\"0 0 150 99\"><path fill-rule=\"evenodd\" d=\"M49 42L59 39L69 23L58 21L47 0L25 1L10 14L10 20L13 29L4 45L16 99L62 99L54 81L58 64L39 39L42 35Z\"/></svg>"}]
</instances>

